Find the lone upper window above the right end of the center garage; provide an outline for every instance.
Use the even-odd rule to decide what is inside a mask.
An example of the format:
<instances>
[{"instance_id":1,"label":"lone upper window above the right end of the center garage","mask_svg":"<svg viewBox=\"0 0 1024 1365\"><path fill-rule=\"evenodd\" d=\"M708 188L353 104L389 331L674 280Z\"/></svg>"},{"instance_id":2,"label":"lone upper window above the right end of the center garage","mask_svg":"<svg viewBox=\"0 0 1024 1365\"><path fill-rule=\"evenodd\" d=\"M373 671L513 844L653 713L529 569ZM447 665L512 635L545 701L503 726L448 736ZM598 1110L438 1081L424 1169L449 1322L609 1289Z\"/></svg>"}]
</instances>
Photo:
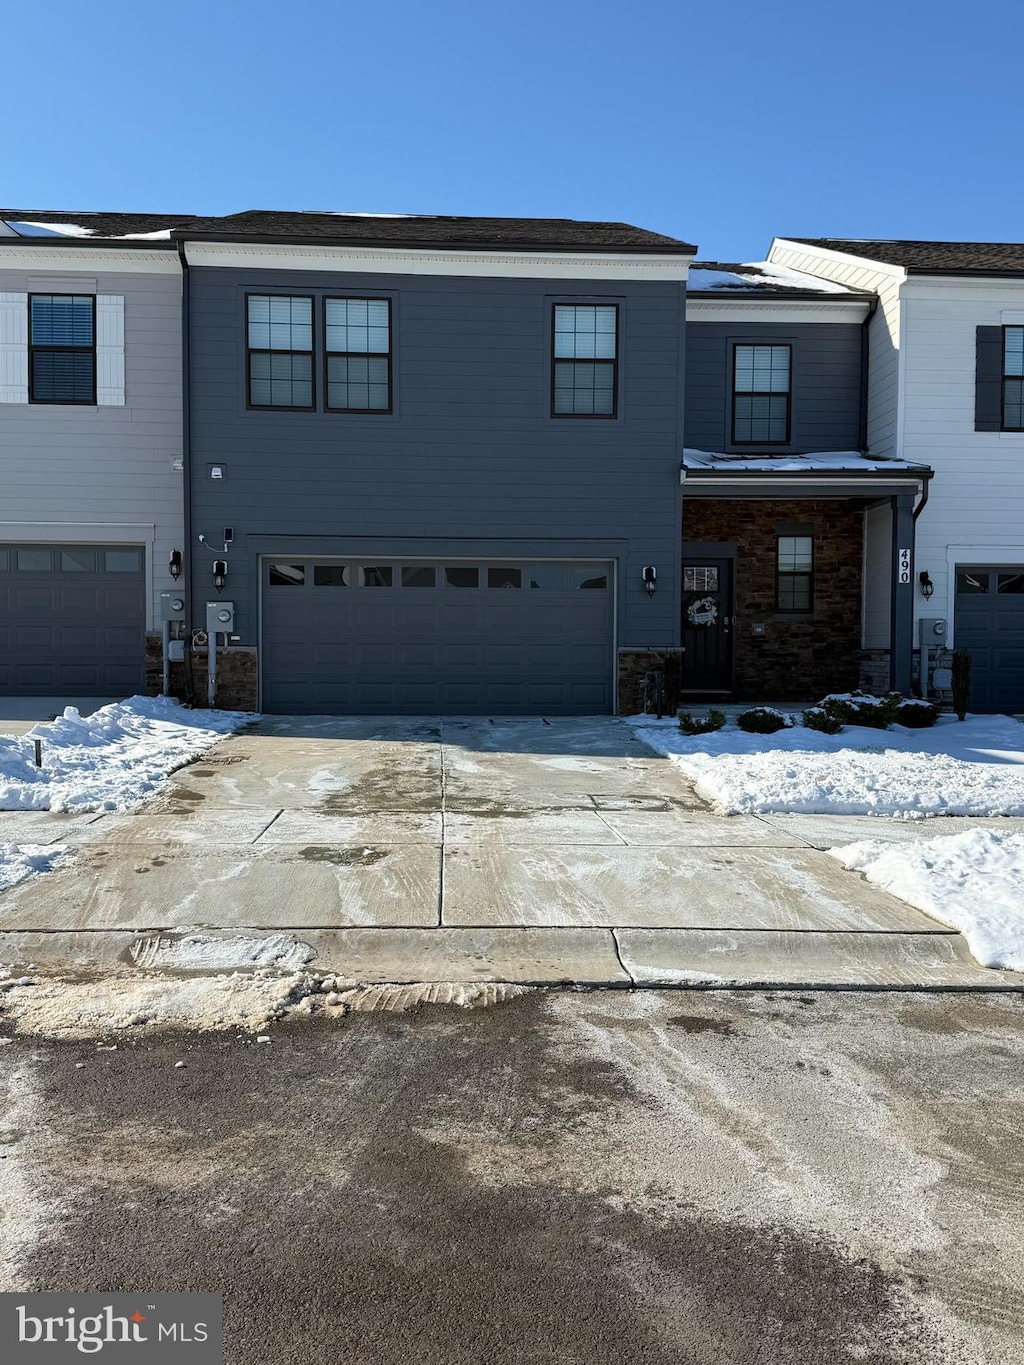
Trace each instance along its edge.
<instances>
[{"instance_id":1,"label":"lone upper window above the right end of the center garage","mask_svg":"<svg viewBox=\"0 0 1024 1365\"><path fill-rule=\"evenodd\" d=\"M556 303L552 415L613 418L618 393L618 306Z\"/></svg>"}]
</instances>

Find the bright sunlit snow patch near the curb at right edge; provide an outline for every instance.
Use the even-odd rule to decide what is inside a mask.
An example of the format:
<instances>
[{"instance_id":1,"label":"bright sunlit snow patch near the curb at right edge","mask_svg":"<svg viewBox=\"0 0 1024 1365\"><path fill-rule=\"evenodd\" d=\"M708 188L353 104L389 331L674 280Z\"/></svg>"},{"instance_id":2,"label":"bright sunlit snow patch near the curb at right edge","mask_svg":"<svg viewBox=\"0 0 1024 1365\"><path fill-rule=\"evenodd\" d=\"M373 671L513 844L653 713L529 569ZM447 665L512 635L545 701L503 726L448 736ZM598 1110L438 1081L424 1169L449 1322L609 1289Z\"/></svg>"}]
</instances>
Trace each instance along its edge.
<instances>
[{"instance_id":1,"label":"bright sunlit snow patch near the curb at right edge","mask_svg":"<svg viewBox=\"0 0 1024 1365\"><path fill-rule=\"evenodd\" d=\"M1024 972L1024 834L969 830L898 845L863 839L829 852L960 930L982 966Z\"/></svg>"}]
</instances>

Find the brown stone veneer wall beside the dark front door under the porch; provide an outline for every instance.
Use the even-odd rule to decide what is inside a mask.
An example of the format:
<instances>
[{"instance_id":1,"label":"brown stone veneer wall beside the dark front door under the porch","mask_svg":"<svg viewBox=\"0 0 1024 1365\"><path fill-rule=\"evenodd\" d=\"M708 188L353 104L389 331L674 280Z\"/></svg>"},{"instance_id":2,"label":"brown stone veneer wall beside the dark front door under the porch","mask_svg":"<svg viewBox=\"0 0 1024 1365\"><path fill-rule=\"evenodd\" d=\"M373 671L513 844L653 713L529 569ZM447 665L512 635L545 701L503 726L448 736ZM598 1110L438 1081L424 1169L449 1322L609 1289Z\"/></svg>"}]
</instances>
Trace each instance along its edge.
<instances>
[{"instance_id":1,"label":"brown stone veneer wall beside the dark front door under the porch","mask_svg":"<svg viewBox=\"0 0 1024 1365\"><path fill-rule=\"evenodd\" d=\"M736 700L816 700L859 685L863 520L860 505L845 500L684 498L684 557L698 541L736 546ZM804 618L776 612L777 523L814 531L814 612ZM765 624L765 636L751 635L755 622Z\"/></svg>"}]
</instances>

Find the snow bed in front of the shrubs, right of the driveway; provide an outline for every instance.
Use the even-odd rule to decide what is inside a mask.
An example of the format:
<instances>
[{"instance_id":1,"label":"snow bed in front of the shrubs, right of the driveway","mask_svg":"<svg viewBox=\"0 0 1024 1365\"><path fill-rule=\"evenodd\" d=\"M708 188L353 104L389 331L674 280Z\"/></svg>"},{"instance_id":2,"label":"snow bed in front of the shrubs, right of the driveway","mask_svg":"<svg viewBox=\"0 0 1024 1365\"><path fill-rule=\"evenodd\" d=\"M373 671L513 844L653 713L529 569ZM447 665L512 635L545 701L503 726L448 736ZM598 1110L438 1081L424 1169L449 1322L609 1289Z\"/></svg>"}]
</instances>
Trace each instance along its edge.
<instances>
[{"instance_id":1,"label":"snow bed in front of the shrubs, right of the driveway","mask_svg":"<svg viewBox=\"0 0 1024 1365\"><path fill-rule=\"evenodd\" d=\"M1024 815L1024 728L1006 715L939 717L928 730L851 725L840 734L800 725L691 737L672 719L631 723L726 814Z\"/></svg>"}]
</instances>

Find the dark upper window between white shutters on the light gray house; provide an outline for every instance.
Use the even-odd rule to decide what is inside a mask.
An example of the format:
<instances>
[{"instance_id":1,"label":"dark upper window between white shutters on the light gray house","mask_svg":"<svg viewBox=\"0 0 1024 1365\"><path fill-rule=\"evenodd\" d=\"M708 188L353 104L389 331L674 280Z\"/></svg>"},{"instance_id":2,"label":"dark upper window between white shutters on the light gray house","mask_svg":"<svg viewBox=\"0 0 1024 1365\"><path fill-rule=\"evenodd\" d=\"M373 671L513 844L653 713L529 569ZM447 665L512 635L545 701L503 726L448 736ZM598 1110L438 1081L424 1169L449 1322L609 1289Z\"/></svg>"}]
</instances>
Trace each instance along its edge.
<instances>
[{"instance_id":1,"label":"dark upper window between white shutters on the light gray house","mask_svg":"<svg viewBox=\"0 0 1024 1365\"><path fill-rule=\"evenodd\" d=\"M96 403L96 298L29 295L29 401Z\"/></svg>"}]
</instances>

